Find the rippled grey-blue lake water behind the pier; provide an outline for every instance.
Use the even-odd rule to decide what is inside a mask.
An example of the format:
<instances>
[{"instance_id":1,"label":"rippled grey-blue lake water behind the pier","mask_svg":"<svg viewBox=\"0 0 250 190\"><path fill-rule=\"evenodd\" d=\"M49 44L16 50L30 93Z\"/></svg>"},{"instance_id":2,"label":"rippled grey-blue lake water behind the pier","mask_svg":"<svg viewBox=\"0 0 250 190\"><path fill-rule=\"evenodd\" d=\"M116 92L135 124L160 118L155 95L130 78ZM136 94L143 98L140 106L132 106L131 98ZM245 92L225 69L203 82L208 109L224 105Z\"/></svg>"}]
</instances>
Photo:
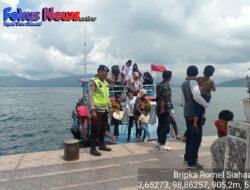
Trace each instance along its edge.
<instances>
[{"instance_id":1,"label":"rippled grey-blue lake water behind the pier","mask_svg":"<svg viewBox=\"0 0 250 190\"><path fill-rule=\"evenodd\" d=\"M63 141L72 138L71 112L81 92L81 88L0 88L0 155L62 148ZM243 120L243 97L247 97L246 88L217 88L207 110L204 135L216 134L213 121L222 109L233 111L235 120ZM173 88L173 102L182 134L180 88ZM153 136L155 130L151 128ZM120 141L125 140L126 131L126 126L120 128Z\"/></svg>"}]
</instances>

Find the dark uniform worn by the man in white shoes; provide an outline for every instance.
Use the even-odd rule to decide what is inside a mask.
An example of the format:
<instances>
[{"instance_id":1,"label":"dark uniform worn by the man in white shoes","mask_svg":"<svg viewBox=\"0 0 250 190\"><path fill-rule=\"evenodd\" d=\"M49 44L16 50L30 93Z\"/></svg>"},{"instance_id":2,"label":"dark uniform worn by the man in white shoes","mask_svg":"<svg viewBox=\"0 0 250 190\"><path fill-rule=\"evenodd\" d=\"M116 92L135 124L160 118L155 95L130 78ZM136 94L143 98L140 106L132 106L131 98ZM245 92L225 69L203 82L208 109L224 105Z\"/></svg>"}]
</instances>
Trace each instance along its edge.
<instances>
[{"instance_id":1,"label":"dark uniform worn by the man in white shoes","mask_svg":"<svg viewBox=\"0 0 250 190\"><path fill-rule=\"evenodd\" d=\"M160 113L160 102L165 102L164 113ZM160 145L166 144L167 134L170 130L170 116L173 113L173 104L171 101L171 88L169 83L160 82L156 86L156 113L158 116L157 136Z\"/></svg>"}]
</instances>

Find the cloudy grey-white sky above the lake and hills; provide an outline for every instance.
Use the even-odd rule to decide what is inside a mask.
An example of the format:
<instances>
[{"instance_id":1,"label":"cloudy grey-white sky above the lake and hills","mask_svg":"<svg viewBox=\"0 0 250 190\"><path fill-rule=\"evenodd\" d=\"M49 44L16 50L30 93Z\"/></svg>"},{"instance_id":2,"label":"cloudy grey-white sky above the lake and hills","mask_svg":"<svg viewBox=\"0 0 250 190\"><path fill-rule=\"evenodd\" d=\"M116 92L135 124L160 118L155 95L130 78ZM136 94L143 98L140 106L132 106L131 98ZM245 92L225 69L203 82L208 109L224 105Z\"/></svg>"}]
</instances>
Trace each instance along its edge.
<instances>
[{"instance_id":1,"label":"cloudy grey-white sky above the lake and hills","mask_svg":"<svg viewBox=\"0 0 250 190\"><path fill-rule=\"evenodd\" d=\"M87 23L88 72L132 59L142 70L166 65L184 78L186 67L216 67L215 79L239 78L250 67L249 0L2 0L2 10L80 11ZM0 14L0 20L3 20ZM83 22L41 27L0 25L0 76L45 79L83 73Z\"/></svg>"}]
</instances>

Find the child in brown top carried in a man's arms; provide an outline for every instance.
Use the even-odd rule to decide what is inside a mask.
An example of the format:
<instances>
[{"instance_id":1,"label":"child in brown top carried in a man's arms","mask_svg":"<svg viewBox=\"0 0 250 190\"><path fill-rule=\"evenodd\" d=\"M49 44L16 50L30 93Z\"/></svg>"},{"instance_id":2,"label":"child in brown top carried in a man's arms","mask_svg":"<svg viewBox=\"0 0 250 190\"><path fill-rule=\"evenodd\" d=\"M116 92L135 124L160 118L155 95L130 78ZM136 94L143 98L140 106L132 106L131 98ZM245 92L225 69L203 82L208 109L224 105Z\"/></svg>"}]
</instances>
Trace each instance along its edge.
<instances>
[{"instance_id":1,"label":"child in brown top carried in a man's arms","mask_svg":"<svg viewBox=\"0 0 250 190\"><path fill-rule=\"evenodd\" d=\"M211 100L211 91L215 91L215 85L214 81L210 79L211 76L213 76L215 71L215 68L212 65L207 65L204 69L204 76L203 77L198 77L196 78L200 91L201 91L201 96L209 103ZM194 116L194 126L198 128L198 119L202 118L202 124L205 123L205 108L200 105L196 104L196 112Z\"/></svg>"}]
</instances>

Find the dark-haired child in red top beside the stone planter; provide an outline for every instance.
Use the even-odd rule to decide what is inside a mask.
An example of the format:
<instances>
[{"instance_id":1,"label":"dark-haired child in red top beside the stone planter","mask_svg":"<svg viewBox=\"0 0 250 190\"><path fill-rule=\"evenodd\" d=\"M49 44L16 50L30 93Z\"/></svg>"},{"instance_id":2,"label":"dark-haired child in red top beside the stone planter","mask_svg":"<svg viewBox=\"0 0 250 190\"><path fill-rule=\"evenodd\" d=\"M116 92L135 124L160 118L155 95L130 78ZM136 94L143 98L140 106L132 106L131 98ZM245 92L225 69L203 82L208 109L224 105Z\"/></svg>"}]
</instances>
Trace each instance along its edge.
<instances>
[{"instance_id":1,"label":"dark-haired child in red top beside the stone planter","mask_svg":"<svg viewBox=\"0 0 250 190\"><path fill-rule=\"evenodd\" d=\"M228 122L232 121L234 114L229 110L223 110L219 113L219 119L214 121L214 125L217 127L218 137L227 136Z\"/></svg>"}]
</instances>

